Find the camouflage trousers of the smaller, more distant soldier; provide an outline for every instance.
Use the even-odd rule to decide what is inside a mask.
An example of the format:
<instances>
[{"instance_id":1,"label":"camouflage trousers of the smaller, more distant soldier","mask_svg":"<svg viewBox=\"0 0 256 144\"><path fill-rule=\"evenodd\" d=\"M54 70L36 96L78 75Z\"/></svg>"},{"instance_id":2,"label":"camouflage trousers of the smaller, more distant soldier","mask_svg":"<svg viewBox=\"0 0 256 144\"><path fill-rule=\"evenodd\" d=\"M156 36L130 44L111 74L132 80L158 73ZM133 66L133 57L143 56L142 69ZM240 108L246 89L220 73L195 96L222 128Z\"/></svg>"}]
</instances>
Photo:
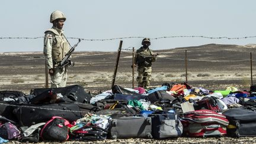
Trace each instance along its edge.
<instances>
[{"instance_id":1,"label":"camouflage trousers of the smaller, more distant soldier","mask_svg":"<svg viewBox=\"0 0 256 144\"><path fill-rule=\"evenodd\" d=\"M148 89L151 82L151 67L138 68L138 76L136 81L138 82L138 87L143 87Z\"/></svg>"}]
</instances>

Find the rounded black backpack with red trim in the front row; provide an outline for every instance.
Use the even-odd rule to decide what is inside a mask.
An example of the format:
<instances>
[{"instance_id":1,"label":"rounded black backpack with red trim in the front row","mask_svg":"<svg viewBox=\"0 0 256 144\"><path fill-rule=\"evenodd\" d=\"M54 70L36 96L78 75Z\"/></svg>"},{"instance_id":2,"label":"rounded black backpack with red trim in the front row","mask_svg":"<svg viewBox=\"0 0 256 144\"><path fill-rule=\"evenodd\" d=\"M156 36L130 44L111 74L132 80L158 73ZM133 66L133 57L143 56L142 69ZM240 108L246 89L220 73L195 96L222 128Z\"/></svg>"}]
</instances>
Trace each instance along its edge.
<instances>
[{"instance_id":1,"label":"rounded black backpack with red trim in the front row","mask_svg":"<svg viewBox=\"0 0 256 144\"><path fill-rule=\"evenodd\" d=\"M69 139L68 124L69 121L62 117L52 117L41 129L40 137L43 140L66 141Z\"/></svg>"}]
</instances>

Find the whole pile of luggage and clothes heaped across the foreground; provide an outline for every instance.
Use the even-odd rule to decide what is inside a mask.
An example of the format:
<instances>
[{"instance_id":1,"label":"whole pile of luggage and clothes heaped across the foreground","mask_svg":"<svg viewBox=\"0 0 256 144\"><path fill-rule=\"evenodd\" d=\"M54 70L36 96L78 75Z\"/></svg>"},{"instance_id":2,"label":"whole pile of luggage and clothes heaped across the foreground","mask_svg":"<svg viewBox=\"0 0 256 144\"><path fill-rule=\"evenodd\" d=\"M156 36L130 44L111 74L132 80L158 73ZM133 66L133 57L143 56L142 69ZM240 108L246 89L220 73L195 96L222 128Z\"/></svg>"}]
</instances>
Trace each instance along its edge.
<instances>
[{"instance_id":1,"label":"whole pile of luggage and clothes heaped across the foreground","mask_svg":"<svg viewBox=\"0 0 256 144\"><path fill-rule=\"evenodd\" d=\"M209 91L168 82L95 95L79 85L0 91L0 143L256 136L255 95L256 85Z\"/></svg>"}]
</instances>

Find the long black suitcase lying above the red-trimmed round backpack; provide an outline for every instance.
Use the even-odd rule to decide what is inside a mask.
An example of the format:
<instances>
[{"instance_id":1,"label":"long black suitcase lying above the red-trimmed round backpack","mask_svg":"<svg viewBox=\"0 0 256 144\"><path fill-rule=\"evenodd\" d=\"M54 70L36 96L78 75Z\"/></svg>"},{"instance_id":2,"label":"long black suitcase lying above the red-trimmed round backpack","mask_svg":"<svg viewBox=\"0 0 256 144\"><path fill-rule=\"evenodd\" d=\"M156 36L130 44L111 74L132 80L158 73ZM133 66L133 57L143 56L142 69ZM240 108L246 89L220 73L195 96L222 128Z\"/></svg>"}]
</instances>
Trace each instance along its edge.
<instances>
[{"instance_id":1,"label":"long black suitcase lying above the red-trimmed round backpack","mask_svg":"<svg viewBox=\"0 0 256 144\"><path fill-rule=\"evenodd\" d=\"M14 110L21 126L31 126L33 124L46 122L53 116L63 117L68 121L81 119L85 113L97 111L91 104L82 103L56 103L45 105L19 105Z\"/></svg>"}]
</instances>

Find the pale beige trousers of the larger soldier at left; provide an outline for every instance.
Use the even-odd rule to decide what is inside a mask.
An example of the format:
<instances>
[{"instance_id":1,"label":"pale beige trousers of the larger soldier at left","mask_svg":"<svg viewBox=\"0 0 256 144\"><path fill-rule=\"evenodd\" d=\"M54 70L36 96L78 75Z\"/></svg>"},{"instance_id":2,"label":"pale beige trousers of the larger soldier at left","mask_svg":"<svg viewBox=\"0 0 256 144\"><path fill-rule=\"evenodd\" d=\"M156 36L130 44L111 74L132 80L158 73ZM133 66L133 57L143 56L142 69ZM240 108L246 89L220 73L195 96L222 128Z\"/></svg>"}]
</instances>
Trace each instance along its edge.
<instances>
[{"instance_id":1,"label":"pale beige trousers of the larger soldier at left","mask_svg":"<svg viewBox=\"0 0 256 144\"><path fill-rule=\"evenodd\" d=\"M51 75L51 88L66 87L66 81L68 78L67 68L55 68L54 75Z\"/></svg>"}]
</instances>

